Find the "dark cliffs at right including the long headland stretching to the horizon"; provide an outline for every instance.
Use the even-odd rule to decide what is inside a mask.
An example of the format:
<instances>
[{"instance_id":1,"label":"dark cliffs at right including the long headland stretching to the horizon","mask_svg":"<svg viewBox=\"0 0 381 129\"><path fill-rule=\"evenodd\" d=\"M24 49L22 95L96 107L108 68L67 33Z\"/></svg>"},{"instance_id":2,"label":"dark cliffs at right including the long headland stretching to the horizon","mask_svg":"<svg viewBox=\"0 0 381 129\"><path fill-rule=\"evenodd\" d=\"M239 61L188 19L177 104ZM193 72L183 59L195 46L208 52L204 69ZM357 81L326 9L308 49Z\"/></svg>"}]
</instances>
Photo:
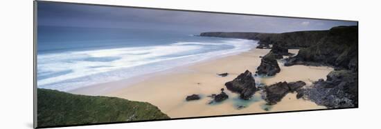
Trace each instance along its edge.
<instances>
[{"instance_id":1,"label":"dark cliffs at right including the long headland stretching to the horizon","mask_svg":"<svg viewBox=\"0 0 381 129\"><path fill-rule=\"evenodd\" d=\"M357 70L357 26L337 26L330 30L274 33L203 32L203 37L226 37L259 40L260 44L275 44L284 48L301 48L285 66L295 64L328 65L339 69Z\"/></svg>"}]
</instances>

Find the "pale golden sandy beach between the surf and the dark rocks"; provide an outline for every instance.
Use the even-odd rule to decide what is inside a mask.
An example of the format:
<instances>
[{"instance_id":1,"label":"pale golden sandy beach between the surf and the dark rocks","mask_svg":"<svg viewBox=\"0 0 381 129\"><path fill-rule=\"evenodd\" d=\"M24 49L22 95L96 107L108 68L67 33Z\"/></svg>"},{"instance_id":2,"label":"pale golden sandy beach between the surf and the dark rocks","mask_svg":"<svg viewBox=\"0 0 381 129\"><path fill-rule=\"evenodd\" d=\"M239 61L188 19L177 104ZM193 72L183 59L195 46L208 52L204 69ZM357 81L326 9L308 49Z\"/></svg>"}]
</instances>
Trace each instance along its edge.
<instances>
[{"instance_id":1,"label":"pale golden sandy beach between the surf and the dark rocks","mask_svg":"<svg viewBox=\"0 0 381 129\"><path fill-rule=\"evenodd\" d=\"M297 53L298 50L289 50ZM238 99L238 94L225 90L229 99L222 103L208 104L211 101L211 94L220 93L224 83L235 79L240 73L249 70L256 72L260 65L260 56L264 56L269 49L252 49L240 54L202 61L190 66L181 66L172 70L158 72L153 75L141 77L139 79L127 79L112 83L104 83L89 88L82 88L70 91L83 95L104 95L109 97L120 97L133 101L147 101L158 106L162 112L171 118L179 117L202 117L210 115L234 115L257 112L278 112L289 110L311 110L322 109L324 106L317 106L312 101L296 99L295 93L287 94L282 101L274 106L265 105L260 93L256 92L254 97L248 101ZM265 85L271 85L279 81L305 81L310 86L312 81L326 79L326 75L333 70L328 67L315 66L283 66L274 77L258 78ZM227 77L219 77L218 73L228 72ZM112 90L110 90L112 89ZM226 88L225 88L226 89ZM198 94L201 96L197 101L186 101L187 95ZM246 106L240 110L238 106ZM269 109L268 111L265 108Z\"/></svg>"}]
</instances>

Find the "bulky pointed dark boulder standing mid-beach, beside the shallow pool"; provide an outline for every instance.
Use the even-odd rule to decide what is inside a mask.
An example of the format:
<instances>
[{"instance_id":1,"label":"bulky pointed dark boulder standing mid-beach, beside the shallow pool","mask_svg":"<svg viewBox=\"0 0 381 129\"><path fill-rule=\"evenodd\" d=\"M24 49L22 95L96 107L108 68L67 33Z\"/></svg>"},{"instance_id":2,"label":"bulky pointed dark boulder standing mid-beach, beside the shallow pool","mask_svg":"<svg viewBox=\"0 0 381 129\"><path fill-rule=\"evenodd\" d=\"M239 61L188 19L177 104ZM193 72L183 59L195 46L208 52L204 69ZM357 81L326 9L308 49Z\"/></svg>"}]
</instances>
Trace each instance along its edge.
<instances>
[{"instance_id":1,"label":"bulky pointed dark boulder standing mid-beach, beside the shallow pool","mask_svg":"<svg viewBox=\"0 0 381 129\"><path fill-rule=\"evenodd\" d=\"M256 92L256 82L254 77L251 75L249 70L238 75L233 81L225 83L225 86L231 92L237 92L240 94L241 99L250 99L252 95Z\"/></svg>"}]
</instances>

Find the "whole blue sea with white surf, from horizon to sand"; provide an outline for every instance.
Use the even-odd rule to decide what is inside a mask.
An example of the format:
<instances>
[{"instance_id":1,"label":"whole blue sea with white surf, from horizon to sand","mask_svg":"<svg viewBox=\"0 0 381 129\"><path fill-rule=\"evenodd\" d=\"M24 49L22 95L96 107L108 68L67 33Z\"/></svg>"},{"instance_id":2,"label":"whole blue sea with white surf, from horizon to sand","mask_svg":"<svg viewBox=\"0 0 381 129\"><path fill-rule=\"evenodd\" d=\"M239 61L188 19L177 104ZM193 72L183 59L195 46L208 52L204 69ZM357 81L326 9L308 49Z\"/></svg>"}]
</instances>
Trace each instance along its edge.
<instances>
[{"instance_id":1,"label":"whole blue sea with white surf, from horizon to sand","mask_svg":"<svg viewBox=\"0 0 381 129\"><path fill-rule=\"evenodd\" d=\"M257 41L200 32L38 26L37 87L61 91L238 54Z\"/></svg>"}]
</instances>

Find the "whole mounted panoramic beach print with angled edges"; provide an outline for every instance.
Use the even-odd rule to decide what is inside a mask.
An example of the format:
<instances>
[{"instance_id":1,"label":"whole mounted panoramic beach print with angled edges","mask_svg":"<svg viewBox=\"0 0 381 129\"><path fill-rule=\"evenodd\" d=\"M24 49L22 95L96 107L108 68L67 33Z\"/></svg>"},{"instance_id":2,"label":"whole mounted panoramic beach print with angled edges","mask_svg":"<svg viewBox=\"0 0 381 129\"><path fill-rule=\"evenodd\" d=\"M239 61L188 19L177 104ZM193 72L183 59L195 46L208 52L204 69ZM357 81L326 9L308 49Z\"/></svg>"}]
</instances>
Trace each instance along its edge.
<instances>
[{"instance_id":1,"label":"whole mounted panoramic beach print with angled edges","mask_svg":"<svg viewBox=\"0 0 381 129\"><path fill-rule=\"evenodd\" d=\"M358 21L34 2L35 128L358 107Z\"/></svg>"}]
</instances>

